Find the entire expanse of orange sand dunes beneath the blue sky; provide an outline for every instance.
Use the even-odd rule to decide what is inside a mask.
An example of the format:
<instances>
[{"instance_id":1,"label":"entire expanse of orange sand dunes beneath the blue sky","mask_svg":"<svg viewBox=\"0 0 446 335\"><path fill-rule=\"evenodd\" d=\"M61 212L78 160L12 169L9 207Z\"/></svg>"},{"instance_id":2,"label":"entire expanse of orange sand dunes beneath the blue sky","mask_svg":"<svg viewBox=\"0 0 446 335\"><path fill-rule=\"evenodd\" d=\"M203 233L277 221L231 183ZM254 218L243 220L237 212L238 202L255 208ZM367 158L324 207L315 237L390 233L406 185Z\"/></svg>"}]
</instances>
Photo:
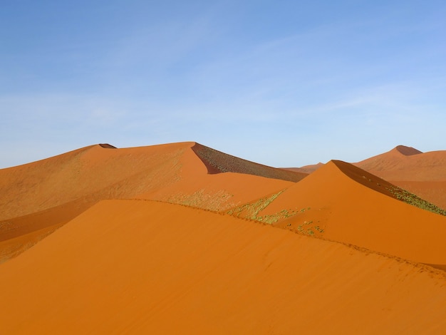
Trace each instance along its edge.
<instances>
[{"instance_id":1,"label":"entire expanse of orange sand dunes beneath the blue sky","mask_svg":"<svg viewBox=\"0 0 446 335\"><path fill-rule=\"evenodd\" d=\"M446 203L445 153L99 144L0 170L0 333L444 334L446 212L398 185Z\"/></svg>"}]
</instances>

